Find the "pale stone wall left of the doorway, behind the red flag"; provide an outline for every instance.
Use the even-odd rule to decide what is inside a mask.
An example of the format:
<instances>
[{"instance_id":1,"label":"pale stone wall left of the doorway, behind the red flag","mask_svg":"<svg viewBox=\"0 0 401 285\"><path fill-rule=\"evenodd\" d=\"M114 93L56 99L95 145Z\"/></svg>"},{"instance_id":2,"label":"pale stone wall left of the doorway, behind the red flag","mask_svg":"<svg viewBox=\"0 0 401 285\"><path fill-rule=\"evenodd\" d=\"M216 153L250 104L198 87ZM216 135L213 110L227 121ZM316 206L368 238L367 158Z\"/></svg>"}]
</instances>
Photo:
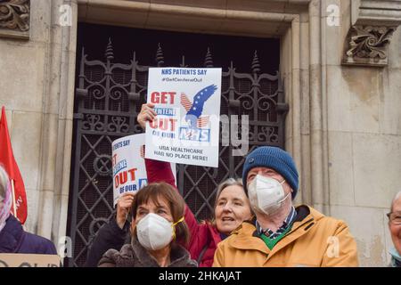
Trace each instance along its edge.
<instances>
[{"instance_id":1,"label":"pale stone wall left of the doorway, behind the red flag","mask_svg":"<svg viewBox=\"0 0 401 285\"><path fill-rule=\"evenodd\" d=\"M37 232L43 104L50 61L49 5L32 4L30 17L29 40L0 40L0 104L7 110L12 148L27 190L26 228Z\"/></svg>"}]
</instances>

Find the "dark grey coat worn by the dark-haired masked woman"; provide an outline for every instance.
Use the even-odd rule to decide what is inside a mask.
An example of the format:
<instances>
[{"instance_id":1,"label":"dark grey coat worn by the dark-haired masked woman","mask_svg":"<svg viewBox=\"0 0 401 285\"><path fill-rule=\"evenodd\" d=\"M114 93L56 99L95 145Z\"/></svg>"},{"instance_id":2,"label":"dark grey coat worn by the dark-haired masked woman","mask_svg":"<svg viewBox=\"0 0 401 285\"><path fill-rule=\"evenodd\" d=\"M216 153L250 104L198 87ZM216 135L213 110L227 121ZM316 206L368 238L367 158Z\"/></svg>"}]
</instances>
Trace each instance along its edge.
<instances>
[{"instance_id":1,"label":"dark grey coat worn by the dark-haired masked woman","mask_svg":"<svg viewBox=\"0 0 401 285\"><path fill-rule=\"evenodd\" d=\"M170 252L171 264L168 267L197 267L189 252L182 246L172 243ZM136 238L131 244L124 245L120 251L109 249L102 256L99 267L160 267L148 251L143 248Z\"/></svg>"}]
</instances>

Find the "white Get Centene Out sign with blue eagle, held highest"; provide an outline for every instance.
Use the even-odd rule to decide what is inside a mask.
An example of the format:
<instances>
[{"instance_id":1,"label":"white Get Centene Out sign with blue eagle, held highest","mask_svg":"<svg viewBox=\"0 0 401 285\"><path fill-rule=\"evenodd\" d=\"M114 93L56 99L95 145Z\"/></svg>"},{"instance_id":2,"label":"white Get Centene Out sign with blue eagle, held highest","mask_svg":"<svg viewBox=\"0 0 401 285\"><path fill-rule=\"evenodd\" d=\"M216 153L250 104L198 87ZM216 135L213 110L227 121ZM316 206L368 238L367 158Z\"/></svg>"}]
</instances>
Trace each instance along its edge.
<instances>
[{"instance_id":1,"label":"white Get Centene Out sign with blue eagle, held highest","mask_svg":"<svg viewBox=\"0 0 401 285\"><path fill-rule=\"evenodd\" d=\"M149 69L146 158L218 167L221 69Z\"/></svg>"}]
</instances>

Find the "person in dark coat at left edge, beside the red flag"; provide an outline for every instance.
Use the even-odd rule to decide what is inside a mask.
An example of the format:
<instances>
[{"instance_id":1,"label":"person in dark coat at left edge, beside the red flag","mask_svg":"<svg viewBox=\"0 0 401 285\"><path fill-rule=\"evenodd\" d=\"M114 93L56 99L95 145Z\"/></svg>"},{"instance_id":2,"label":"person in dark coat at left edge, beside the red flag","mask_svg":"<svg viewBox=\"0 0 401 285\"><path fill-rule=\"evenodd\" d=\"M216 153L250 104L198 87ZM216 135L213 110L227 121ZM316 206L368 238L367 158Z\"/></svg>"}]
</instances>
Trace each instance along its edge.
<instances>
[{"instance_id":1,"label":"person in dark coat at left edge, beside the red flag","mask_svg":"<svg viewBox=\"0 0 401 285\"><path fill-rule=\"evenodd\" d=\"M11 206L10 179L0 166L0 253L56 255L52 241L22 229L20 222L10 215Z\"/></svg>"}]
</instances>

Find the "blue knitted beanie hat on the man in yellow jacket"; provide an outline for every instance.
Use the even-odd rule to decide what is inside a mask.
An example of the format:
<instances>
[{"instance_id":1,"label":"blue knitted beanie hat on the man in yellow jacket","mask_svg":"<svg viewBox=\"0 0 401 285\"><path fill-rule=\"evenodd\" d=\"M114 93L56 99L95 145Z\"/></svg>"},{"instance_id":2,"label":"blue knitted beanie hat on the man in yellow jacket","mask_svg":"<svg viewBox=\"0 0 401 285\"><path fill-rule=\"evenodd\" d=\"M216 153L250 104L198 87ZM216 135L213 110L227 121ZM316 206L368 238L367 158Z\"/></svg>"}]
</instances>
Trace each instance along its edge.
<instances>
[{"instance_id":1,"label":"blue knitted beanie hat on the man in yellow jacket","mask_svg":"<svg viewBox=\"0 0 401 285\"><path fill-rule=\"evenodd\" d=\"M274 169L290 184L293 191L291 195L292 199L297 196L299 187L298 171L294 160L287 151L282 151L282 149L273 146L261 146L251 151L245 159L242 170L242 182L246 192L248 192L247 175L250 169L255 167Z\"/></svg>"}]
</instances>

